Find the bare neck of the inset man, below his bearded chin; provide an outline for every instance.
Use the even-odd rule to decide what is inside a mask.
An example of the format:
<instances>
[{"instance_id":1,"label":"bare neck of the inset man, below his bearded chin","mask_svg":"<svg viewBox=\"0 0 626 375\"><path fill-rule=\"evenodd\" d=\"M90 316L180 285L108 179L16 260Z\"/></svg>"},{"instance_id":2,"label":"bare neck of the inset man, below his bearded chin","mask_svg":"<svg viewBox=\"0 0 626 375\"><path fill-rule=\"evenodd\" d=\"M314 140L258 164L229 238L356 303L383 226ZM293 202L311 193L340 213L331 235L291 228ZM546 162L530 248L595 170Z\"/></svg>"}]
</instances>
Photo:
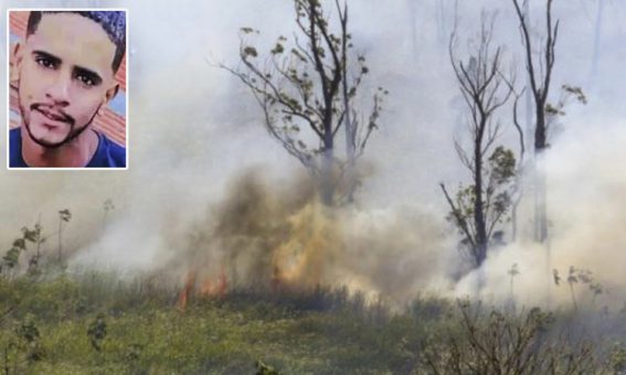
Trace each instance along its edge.
<instances>
[{"instance_id":1,"label":"bare neck of the inset man, below his bearded chin","mask_svg":"<svg viewBox=\"0 0 626 375\"><path fill-rule=\"evenodd\" d=\"M78 137L59 148L45 148L38 144L22 126L22 158L33 168L81 168L87 165L98 148L98 135L87 129Z\"/></svg>"}]
</instances>

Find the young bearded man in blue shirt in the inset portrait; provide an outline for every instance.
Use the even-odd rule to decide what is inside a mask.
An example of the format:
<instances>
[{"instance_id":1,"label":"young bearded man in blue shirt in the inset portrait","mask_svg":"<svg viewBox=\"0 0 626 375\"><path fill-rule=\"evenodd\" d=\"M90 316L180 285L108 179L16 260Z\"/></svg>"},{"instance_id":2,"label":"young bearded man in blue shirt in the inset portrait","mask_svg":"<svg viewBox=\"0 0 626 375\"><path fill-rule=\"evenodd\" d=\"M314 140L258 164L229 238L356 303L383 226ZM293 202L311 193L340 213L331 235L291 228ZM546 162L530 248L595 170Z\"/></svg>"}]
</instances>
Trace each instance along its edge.
<instances>
[{"instance_id":1,"label":"young bearded man in blue shirt in the inset portrait","mask_svg":"<svg viewBox=\"0 0 626 375\"><path fill-rule=\"evenodd\" d=\"M124 12L31 12L12 51L22 124L10 131L9 167L126 167L125 148L89 127L117 94L125 50Z\"/></svg>"}]
</instances>

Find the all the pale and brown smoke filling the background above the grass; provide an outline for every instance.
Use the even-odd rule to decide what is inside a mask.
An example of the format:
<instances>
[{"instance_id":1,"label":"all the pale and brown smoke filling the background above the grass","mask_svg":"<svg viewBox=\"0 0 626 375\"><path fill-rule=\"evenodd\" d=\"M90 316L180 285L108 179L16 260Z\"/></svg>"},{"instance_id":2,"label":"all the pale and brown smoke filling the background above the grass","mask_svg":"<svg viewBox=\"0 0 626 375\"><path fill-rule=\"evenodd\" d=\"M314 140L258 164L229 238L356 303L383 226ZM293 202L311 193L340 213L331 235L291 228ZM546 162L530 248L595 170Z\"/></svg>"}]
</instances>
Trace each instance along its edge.
<instances>
[{"instance_id":1,"label":"all the pale and brown smoke filling the background above the grass","mask_svg":"<svg viewBox=\"0 0 626 375\"><path fill-rule=\"evenodd\" d=\"M459 238L444 221L447 207L437 189L439 181L450 186L467 181L453 146L453 136L461 137L464 127L456 124L458 92L447 38L442 38L454 24L452 3L350 2L354 44L372 72L368 82L391 95L365 153L372 172L358 203L330 211L316 201L297 161L267 136L250 93L215 67L236 64L241 26L261 29L261 43L268 45L279 34L290 35L290 4L107 2L130 11L129 169L0 171L0 239L9 246L22 226L40 219L44 232L52 233L56 212L70 208L64 248L75 249L75 266L169 272L177 280L190 271L215 278L224 267L235 285L348 285L394 301L423 290L475 296L476 280L484 278L479 298L507 301L513 296L528 304L569 304L564 279L574 266L593 271L609 292L597 303L622 304L624 7L612 3L613 12L603 18L602 74L586 93L590 105L566 109L563 131L547 154L550 261L545 248L520 239L495 249L484 268L461 277ZM46 7L67 4L45 1ZM43 3L2 3L3 10L13 6ZM506 44L508 58L523 68L507 1L459 7L460 36L475 34L481 7L499 10L495 42ZM539 18L541 7L533 7ZM594 24L571 2L558 7L562 28L554 87L585 83ZM0 82L7 85L6 77ZM4 152L4 141L2 146ZM105 221L107 199L115 210ZM522 217L522 224L529 225L528 219ZM45 246L54 250L54 242ZM511 288L508 270L513 264L520 274ZM561 286L553 283L552 269L563 278ZM575 288L581 298L591 296L586 286Z\"/></svg>"}]
</instances>

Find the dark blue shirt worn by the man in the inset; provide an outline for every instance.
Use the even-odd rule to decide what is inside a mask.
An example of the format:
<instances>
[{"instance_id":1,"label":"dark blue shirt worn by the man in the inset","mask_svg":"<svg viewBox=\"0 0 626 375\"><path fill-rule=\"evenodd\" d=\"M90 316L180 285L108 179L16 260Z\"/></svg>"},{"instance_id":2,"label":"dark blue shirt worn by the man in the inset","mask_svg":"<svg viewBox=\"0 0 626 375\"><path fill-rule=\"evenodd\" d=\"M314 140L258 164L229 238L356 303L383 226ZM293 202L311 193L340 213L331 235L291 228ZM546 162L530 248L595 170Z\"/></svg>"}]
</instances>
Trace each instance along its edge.
<instances>
[{"instance_id":1,"label":"dark blue shirt worn by the man in the inset","mask_svg":"<svg viewBox=\"0 0 626 375\"><path fill-rule=\"evenodd\" d=\"M29 168L22 158L22 133L21 128L11 129L9 132L9 167ZM126 149L96 131L98 135L98 148L94 157L85 168L125 168Z\"/></svg>"}]
</instances>

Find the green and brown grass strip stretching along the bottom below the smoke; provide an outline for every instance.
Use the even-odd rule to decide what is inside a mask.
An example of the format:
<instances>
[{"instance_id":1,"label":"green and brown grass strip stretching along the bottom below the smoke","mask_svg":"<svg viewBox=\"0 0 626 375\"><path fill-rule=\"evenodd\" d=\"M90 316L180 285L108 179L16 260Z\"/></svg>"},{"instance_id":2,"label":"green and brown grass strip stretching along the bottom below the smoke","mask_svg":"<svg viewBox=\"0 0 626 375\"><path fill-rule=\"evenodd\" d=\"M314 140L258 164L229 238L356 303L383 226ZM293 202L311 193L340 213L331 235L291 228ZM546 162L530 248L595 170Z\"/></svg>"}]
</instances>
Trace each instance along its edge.
<instances>
[{"instance_id":1,"label":"green and brown grass strip stretching along the bottom below the smoke","mask_svg":"<svg viewBox=\"0 0 626 375\"><path fill-rule=\"evenodd\" d=\"M496 350L489 345L502 334L511 351L495 355L506 358L521 332L524 355L533 345L548 347L558 358L554 368L566 368L567 355L592 366L576 368L597 373L626 365L618 346L626 336L624 313L514 313L428 297L392 312L347 287L203 294L195 283L181 311L185 286L157 279L84 272L2 280L0 363L9 374L254 373L258 361L285 374L409 374L449 373L456 361L467 373L475 361L491 363L488 351L474 353L473 342ZM532 353L542 357L544 351Z\"/></svg>"}]
</instances>

